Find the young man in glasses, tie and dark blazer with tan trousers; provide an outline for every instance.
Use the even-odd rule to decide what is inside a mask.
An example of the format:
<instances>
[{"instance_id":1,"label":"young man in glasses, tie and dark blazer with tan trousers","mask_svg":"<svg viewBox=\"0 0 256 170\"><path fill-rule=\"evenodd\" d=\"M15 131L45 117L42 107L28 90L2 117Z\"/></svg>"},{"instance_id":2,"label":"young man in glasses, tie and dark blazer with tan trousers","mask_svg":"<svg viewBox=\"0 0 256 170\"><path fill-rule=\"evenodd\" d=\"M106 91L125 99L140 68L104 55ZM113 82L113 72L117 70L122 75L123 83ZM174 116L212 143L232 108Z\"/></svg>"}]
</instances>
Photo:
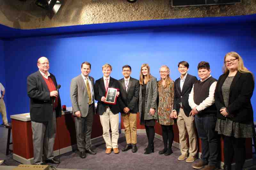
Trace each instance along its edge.
<instances>
[{"instance_id":1,"label":"young man in glasses, tie and dark blazer with tan trousers","mask_svg":"<svg viewBox=\"0 0 256 170\"><path fill-rule=\"evenodd\" d=\"M124 123L126 146L122 151L132 149L137 152L137 112L139 100L139 80L131 78L132 68L129 65L123 66L124 78L120 82L121 93L121 115Z\"/></svg>"}]
</instances>

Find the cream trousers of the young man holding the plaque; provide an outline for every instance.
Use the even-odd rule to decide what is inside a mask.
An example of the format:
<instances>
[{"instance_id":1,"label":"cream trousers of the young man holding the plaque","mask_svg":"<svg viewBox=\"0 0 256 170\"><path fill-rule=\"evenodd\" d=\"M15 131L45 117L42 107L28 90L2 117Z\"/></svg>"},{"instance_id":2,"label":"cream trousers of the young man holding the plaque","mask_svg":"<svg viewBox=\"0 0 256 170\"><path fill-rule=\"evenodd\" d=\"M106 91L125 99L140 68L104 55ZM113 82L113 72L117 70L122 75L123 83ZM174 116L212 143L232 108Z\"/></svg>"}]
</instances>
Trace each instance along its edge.
<instances>
[{"instance_id":1,"label":"cream trousers of the young man holding the plaque","mask_svg":"<svg viewBox=\"0 0 256 170\"><path fill-rule=\"evenodd\" d=\"M110 138L110 132L109 132L109 122L112 132L112 138ZM118 138L119 138L119 132L118 132L118 126L119 126L119 113L113 114L108 107L106 112L103 113L103 115L100 115L100 123L103 129L103 139L105 140L106 147L107 148L118 148Z\"/></svg>"}]
</instances>

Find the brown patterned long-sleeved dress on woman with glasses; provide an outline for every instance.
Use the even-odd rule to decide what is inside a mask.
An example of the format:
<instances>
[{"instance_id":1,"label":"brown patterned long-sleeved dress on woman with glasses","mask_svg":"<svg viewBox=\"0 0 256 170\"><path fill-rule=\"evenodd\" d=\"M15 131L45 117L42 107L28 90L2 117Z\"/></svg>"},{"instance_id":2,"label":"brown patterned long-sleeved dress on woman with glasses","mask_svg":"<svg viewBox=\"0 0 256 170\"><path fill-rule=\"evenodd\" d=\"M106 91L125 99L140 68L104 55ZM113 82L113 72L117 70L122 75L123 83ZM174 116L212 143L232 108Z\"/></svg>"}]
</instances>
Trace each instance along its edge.
<instances>
[{"instance_id":1,"label":"brown patterned long-sleeved dress on woman with glasses","mask_svg":"<svg viewBox=\"0 0 256 170\"><path fill-rule=\"evenodd\" d=\"M162 80L158 81L158 122L161 125L173 125L174 120L170 118L174 100L174 82L169 79L166 85L162 85Z\"/></svg>"}]
</instances>

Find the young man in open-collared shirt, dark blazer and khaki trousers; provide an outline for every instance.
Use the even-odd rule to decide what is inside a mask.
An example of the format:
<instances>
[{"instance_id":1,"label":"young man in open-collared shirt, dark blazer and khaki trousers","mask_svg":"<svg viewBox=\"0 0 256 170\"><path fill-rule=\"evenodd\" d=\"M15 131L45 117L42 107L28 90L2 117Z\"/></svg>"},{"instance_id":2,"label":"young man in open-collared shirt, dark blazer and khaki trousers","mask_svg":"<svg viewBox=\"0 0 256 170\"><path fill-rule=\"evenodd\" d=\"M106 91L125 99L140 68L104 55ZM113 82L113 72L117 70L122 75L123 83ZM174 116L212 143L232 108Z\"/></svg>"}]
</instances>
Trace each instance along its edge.
<instances>
[{"instance_id":1,"label":"young man in open-collared shirt, dark blazer and khaki trousers","mask_svg":"<svg viewBox=\"0 0 256 170\"><path fill-rule=\"evenodd\" d=\"M194 126L194 117L189 116L191 108L188 104L188 95L197 81L195 76L188 74L189 64L186 61L181 61L178 64L180 77L174 83L174 102L173 102L173 118L177 119L180 137L180 152L178 160L186 162L194 162L197 154L197 138ZM177 116L178 115L178 116ZM187 137L188 132L188 137ZM189 140L189 148L187 145ZM189 152L189 156L188 156Z\"/></svg>"}]
</instances>

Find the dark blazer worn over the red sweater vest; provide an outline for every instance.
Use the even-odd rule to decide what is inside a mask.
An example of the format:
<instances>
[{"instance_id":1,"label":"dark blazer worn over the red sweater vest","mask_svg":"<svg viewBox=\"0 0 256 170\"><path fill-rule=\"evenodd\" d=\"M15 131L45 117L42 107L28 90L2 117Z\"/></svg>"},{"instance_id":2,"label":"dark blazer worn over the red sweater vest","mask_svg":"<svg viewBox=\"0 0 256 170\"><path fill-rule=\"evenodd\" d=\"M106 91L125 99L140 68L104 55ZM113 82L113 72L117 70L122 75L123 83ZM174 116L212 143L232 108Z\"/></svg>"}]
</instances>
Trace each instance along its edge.
<instances>
[{"instance_id":1,"label":"dark blazer worn over the red sweater vest","mask_svg":"<svg viewBox=\"0 0 256 170\"><path fill-rule=\"evenodd\" d=\"M56 78L50 73L52 81L57 89ZM32 73L27 78L27 91L30 98L30 119L33 122L47 122L51 119L53 112L50 91L40 71ZM55 108L56 117L61 116L60 94L58 95L58 106Z\"/></svg>"}]
</instances>

